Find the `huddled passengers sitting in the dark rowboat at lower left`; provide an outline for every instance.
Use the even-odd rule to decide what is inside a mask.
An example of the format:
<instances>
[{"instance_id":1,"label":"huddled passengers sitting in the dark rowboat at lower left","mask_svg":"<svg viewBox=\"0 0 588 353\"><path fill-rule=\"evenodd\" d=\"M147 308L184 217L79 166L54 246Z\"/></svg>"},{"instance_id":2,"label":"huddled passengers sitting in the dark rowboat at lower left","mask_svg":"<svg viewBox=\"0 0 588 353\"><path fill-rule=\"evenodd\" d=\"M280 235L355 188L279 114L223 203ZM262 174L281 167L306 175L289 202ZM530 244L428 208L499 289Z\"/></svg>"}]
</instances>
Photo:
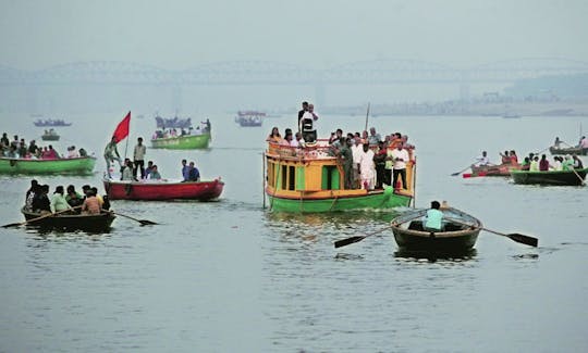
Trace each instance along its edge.
<instances>
[{"instance_id":1,"label":"huddled passengers sitting in the dark rowboat at lower left","mask_svg":"<svg viewBox=\"0 0 588 353\"><path fill-rule=\"evenodd\" d=\"M56 187L49 197L49 185L30 180L30 188L26 191L25 210L44 214L99 214L101 210L110 210L108 196L100 196L98 188L84 185L82 193L73 185L64 190L62 185Z\"/></svg>"}]
</instances>

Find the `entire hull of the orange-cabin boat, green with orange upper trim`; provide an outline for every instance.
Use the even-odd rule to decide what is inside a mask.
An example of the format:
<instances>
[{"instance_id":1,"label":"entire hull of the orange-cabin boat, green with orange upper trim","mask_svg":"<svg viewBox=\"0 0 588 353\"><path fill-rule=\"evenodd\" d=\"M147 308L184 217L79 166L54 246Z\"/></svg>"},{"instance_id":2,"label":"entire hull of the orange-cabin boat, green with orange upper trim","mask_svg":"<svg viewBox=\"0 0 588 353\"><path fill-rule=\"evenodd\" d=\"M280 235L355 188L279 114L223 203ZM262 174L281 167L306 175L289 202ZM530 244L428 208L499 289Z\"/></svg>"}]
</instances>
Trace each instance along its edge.
<instances>
[{"instance_id":1,"label":"entire hull of the orange-cabin boat, green with orange upper trim","mask_svg":"<svg viewBox=\"0 0 588 353\"><path fill-rule=\"evenodd\" d=\"M365 190L333 190L333 196L330 197L314 196L314 193L320 194L319 192L301 192L297 198L272 196L269 190L266 190L266 193L269 197L270 210L298 213L407 207L413 200L412 196L396 193L391 187L385 190L370 192Z\"/></svg>"}]
</instances>

